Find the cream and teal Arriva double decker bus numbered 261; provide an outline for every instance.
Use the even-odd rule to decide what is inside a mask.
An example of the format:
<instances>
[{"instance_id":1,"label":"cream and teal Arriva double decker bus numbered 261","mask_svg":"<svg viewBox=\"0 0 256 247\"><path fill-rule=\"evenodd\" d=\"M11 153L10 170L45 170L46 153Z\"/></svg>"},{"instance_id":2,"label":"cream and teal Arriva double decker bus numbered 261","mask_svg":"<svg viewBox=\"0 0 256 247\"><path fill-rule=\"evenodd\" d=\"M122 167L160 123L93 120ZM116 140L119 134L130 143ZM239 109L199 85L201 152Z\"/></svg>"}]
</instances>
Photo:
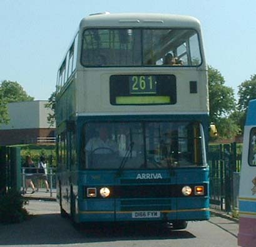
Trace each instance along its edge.
<instances>
[{"instance_id":1,"label":"cream and teal Arriva double decker bus numbered 261","mask_svg":"<svg viewBox=\"0 0 256 247\"><path fill-rule=\"evenodd\" d=\"M61 213L76 223L173 229L209 218L207 64L197 19L85 17L56 89Z\"/></svg>"}]
</instances>

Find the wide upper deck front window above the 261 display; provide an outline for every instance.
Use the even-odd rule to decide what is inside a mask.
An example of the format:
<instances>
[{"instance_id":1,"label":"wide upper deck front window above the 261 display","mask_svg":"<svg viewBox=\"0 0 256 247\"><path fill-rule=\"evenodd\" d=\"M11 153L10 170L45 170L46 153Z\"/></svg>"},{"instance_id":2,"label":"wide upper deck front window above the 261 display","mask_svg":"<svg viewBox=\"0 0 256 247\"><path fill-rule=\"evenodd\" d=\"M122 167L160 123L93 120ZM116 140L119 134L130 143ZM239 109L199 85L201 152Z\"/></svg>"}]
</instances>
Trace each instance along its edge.
<instances>
[{"instance_id":1,"label":"wide upper deck front window above the 261 display","mask_svg":"<svg viewBox=\"0 0 256 247\"><path fill-rule=\"evenodd\" d=\"M202 63L193 29L86 29L81 64L108 66L198 66Z\"/></svg>"}]
</instances>

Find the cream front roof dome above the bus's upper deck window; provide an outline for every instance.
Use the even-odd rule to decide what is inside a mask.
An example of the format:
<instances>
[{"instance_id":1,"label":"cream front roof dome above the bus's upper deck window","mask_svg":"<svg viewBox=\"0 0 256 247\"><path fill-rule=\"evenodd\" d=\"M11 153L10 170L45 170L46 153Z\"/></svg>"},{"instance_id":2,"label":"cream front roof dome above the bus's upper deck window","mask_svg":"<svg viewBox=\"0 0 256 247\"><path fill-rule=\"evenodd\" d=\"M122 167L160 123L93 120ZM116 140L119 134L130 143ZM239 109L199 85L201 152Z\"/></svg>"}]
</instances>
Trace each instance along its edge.
<instances>
[{"instance_id":1,"label":"cream front roof dome above the bus's upper deck window","mask_svg":"<svg viewBox=\"0 0 256 247\"><path fill-rule=\"evenodd\" d=\"M80 27L176 27L200 29L200 21L192 16L175 14L99 13L85 17Z\"/></svg>"}]
</instances>

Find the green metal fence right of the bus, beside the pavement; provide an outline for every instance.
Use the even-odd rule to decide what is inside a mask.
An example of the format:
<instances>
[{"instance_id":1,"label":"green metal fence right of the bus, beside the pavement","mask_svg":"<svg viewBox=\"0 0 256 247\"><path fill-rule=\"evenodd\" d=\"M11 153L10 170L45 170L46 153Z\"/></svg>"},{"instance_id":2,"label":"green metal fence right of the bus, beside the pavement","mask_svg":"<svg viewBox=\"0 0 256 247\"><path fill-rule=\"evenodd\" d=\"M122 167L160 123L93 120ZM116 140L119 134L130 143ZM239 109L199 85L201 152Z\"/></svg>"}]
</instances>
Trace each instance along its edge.
<instances>
[{"instance_id":1,"label":"green metal fence right of the bus, beside the pavement","mask_svg":"<svg viewBox=\"0 0 256 247\"><path fill-rule=\"evenodd\" d=\"M242 145L237 143L210 145L210 207L231 211L237 207L238 181L242 161Z\"/></svg>"}]
</instances>

